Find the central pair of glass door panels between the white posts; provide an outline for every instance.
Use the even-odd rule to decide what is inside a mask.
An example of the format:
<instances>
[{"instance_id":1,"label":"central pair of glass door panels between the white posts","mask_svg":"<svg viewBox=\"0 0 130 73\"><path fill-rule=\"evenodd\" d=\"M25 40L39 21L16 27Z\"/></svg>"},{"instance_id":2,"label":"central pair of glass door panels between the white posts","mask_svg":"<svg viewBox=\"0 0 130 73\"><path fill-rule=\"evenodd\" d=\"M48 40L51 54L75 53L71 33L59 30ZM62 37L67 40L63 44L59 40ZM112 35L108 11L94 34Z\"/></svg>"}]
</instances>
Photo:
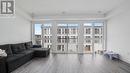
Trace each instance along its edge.
<instances>
[{"instance_id":1,"label":"central pair of glass door panels between the white posts","mask_svg":"<svg viewBox=\"0 0 130 73\"><path fill-rule=\"evenodd\" d=\"M57 52L76 53L78 24L57 24Z\"/></svg>"}]
</instances>

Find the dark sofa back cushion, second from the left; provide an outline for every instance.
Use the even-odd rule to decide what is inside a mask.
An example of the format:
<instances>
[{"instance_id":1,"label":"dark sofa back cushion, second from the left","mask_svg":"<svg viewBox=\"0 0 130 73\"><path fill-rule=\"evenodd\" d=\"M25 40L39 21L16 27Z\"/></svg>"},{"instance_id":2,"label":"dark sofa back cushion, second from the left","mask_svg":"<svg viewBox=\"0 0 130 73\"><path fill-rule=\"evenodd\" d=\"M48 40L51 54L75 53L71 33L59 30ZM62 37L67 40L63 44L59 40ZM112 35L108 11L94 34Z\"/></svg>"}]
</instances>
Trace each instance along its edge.
<instances>
[{"instance_id":1,"label":"dark sofa back cushion, second from the left","mask_svg":"<svg viewBox=\"0 0 130 73\"><path fill-rule=\"evenodd\" d=\"M13 54L18 54L19 52L26 50L24 43L12 44L11 49Z\"/></svg>"}]
</instances>

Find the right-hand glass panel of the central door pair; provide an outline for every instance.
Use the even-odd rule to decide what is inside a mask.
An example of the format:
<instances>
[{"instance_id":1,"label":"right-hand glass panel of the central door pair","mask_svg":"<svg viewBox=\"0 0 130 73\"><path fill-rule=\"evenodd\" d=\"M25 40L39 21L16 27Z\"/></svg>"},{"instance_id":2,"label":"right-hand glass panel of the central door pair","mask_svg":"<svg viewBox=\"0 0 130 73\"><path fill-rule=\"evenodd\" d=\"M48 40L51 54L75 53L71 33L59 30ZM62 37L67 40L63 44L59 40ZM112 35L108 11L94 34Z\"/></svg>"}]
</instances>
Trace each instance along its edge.
<instances>
[{"instance_id":1,"label":"right-hand glass panel of the central door pair","mask_svg":"<svg viewBox=\"0 0 130 73\"><path fill-rule=\"evenodd\" d=\"M78 52L78 24L68 24L68 53Z\"/></svg>"}]
</instances>

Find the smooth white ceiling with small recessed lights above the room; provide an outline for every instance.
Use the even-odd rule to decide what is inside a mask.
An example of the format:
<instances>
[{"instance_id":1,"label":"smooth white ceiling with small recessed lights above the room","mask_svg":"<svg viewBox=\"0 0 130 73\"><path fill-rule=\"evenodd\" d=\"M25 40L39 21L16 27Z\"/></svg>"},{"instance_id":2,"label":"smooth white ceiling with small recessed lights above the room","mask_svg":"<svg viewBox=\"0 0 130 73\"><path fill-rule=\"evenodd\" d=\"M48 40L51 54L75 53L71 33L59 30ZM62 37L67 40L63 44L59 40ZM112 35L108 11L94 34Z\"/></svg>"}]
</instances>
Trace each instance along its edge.
<instances>
[{"instance_id":1,"label":"smooth white ceiling with small recessed lights above the room","mask_svg":"<svg viewBox=\"0 0 130 73\"><path fill-rule=\"evenodd\" d=\"M16 6L29 14L85 15L106 14L126 0L16 0Z\"/></svg>"}]
</instances>

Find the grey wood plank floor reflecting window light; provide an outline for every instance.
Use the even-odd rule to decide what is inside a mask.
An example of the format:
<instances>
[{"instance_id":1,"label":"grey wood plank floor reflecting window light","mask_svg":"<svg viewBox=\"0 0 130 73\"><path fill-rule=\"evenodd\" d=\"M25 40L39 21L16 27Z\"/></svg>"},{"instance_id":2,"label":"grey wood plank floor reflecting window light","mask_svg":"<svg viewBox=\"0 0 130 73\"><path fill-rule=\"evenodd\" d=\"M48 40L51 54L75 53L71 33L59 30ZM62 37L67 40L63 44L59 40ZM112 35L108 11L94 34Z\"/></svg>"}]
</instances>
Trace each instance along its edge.
<instances>
[{"instance_id":1,"label":"grey wood plank floor reflecting window light","mask_svg":"<svg viewBox=\"0 0 130 73\"><path fill-rule=\"evenodd\" d=\"M35 58L12 73L130 73L130 66L98 54L51 54Z\"/></svg>"}]
</instances>

